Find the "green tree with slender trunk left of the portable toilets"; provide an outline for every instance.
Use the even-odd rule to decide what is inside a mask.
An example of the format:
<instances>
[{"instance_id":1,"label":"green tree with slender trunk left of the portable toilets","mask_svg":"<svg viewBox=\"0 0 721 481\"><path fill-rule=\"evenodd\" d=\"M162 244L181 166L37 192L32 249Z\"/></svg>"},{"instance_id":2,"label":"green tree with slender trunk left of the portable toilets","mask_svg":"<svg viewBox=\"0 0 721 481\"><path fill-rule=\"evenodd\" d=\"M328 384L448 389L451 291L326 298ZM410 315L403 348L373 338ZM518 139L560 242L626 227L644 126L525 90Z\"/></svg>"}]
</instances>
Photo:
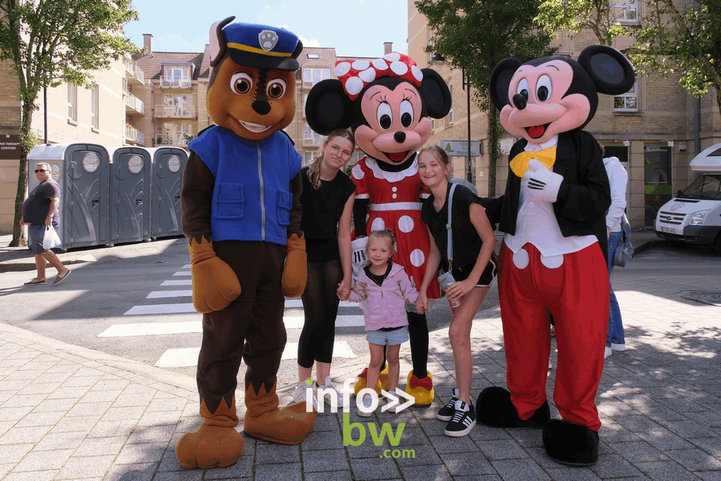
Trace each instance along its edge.
<instances>
[{"instance_id":1,"label":"green tree with slender trunk left of the portable toilets","mask_svg":"<svg viewBox=\"0 0 721 481\"><path fill-rule=\"evenodd\" d=\"M123 37L125 22L138 19L131 0L0 0L0 60L12 62L19 81L22 116L17 196L11 246L25 244L19 226L32 149L32 111L43 87L63 81L92 87L92 71L111 59L138 53Z\"/></svg>"}]
</instances>

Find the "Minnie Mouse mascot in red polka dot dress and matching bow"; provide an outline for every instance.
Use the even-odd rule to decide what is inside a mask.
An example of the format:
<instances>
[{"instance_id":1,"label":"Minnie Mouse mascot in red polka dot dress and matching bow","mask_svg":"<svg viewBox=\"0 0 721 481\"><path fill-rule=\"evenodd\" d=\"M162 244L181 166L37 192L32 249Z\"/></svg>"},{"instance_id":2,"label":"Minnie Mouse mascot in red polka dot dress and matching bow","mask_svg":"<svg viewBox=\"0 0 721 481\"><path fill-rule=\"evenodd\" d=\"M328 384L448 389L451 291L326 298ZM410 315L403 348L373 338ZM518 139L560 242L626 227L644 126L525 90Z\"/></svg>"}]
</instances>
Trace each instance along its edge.
<instances>
[{"instance_id":1,"label":"Minnie Mouse mascot in red polka dot dress and matching bow","mask_svg":"<svg viewBox=\"0 0 721 481\"><path fill-rule=\"evenodd\" d=\"M443 118L451 110L451 92L435 71L418 69L412 58L396 52L371 62L338 61L335 74L337 80L321 81L311 89L306 100L308 123L322 135L351 128L356 144L366 153L352 171L355 236L366 235L367 223L371 231L393 229L398 244L394 262L420 286L430 252L420 206L430 194L422 193L417 151L433 131L430 118ZM428 299L440 297L434 283ZM406 392L417 405L429 405L434 393L426 369L428 322L425 314L407 315L413 370ZM356 394L366 387L365 381L361 376Z\"/></svg>"}]
</instances>

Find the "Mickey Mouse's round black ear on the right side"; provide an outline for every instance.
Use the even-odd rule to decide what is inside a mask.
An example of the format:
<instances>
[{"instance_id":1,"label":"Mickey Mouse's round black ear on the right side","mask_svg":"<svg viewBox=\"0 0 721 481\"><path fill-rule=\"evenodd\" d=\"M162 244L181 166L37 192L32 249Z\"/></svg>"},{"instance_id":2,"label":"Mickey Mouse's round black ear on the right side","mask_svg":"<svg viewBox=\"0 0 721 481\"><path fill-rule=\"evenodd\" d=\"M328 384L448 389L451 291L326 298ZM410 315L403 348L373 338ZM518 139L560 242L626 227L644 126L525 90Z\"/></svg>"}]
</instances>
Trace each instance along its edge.
<instances>
[{"instance_id":1,"label":"Mickey Mouse's round black ear on the right side","mask_svg":"<svg viewBox=\"0 0 721 481\"><path fill-rule=\"evenodd\" d=\"M584 48L578 56L578 63L588 72L601 94L625 94L636 81L631 62L619 50L608 45Z\"/></svg>"}]
</instances>

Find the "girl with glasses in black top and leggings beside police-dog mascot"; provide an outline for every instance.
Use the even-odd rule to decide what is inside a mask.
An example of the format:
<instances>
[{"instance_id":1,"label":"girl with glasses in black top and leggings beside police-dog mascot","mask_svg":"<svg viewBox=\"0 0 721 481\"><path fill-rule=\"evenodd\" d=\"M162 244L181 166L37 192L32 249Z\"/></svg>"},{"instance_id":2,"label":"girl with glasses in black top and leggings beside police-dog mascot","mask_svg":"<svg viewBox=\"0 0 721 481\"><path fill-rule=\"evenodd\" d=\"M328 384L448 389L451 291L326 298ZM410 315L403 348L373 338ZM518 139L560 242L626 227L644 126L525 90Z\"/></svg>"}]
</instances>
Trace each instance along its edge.
<instances>
[{"instance_id":1,"label":"girl with glasses in black top and leggings beside police-dog mascot","mask_svg":"<svg viewBox=\"0 0 721 481\"><path fill-rule=\"evenodd\" d=\"M352 281L350 219L355 184L340 169L350 160L353 149L353 134L333 131L323 144L321 155L301 169L301 229L306 238L308 281L301 296L305 322L298 339L296 402L305 400L306 387L309 387L306 379L310 379L315 363L314 387L320 384L326 391L326 402L336 397L337 405L342 404L330 380L330 363L338 304L348 299Z\"/></svg>"}]
</instances>

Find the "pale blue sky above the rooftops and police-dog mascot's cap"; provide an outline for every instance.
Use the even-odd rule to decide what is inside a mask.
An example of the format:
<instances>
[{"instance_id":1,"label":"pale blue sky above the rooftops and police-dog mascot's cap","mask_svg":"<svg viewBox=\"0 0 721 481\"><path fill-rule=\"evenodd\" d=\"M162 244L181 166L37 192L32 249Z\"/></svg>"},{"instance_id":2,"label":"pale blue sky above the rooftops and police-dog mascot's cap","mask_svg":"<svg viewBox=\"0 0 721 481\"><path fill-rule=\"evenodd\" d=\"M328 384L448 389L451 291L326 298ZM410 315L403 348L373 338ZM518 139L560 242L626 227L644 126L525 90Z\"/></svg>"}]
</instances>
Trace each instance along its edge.
<instances>
[{"instance_id":1,"label":"pale blue sky above the rooftops and police-dog mascot's cap","mask_svg":"<svg viewBox=\"0 0 721 481\"><path fill-rule=\"evenodd\" d=\"M143 46L143 33L153 35L158 52L202 52L213 22L235 16L235 22L286 27L304 45L335 47L340 56L383 55L383 43L407 53L408 1L158 1L134 0L138 22L125 26L125 36Z\"/></svg>"}]
</instances>

